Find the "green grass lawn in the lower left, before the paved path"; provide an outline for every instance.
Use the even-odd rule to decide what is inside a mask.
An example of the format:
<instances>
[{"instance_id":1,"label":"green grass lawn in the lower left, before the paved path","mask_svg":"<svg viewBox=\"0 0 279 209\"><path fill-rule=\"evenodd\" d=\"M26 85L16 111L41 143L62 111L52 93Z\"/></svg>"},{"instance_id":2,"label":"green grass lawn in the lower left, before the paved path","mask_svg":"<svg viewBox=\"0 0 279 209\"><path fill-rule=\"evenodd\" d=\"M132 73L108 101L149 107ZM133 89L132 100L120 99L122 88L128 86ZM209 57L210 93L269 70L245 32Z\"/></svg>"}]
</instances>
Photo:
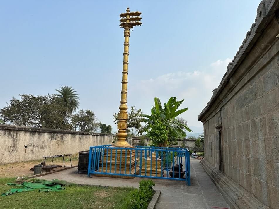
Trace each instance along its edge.
<instances>
[{"instance_id":1,"label":"green grass lawn in the lower left, before the paved path","mask_svg":"<svg viewBox=\"0 0 279 209\"><path fill-rule=\"evenodd\" d=\"M13 186L15 178L0 178L0 193ZM18 187L13 187L18 188ZM0 196L0 209L6 208L123 208L123 203L133 188L115 188L71 184L60 192L38 190Z\"/></svg>"}]
</instances>

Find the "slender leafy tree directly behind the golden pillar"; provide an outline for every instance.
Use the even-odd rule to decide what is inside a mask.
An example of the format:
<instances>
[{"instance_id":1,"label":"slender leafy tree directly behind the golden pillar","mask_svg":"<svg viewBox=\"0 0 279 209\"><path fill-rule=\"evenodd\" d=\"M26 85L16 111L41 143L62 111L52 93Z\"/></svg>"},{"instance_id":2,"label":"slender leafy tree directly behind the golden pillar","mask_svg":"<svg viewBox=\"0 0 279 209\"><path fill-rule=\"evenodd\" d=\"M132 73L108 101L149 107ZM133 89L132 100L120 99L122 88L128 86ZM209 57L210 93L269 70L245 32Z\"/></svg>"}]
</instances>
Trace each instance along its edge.
<instances>
[{"instance_id":1,"label":"slender leafy tree directly behind the golden pillar","mask_svg":"<svg viewBox=\"0 0 279 209\"><path fill-rule=\"evenodd\" d=\"M118 114L113 114L113 121L115 124L118 123ZM137 136L142 133L143 127L141 122L144 121L142 116L142 109L136 109L135 106L131 107L130 112L128 112L127 120L127 133L131 136Z\"/></svg>"}]
</instances>

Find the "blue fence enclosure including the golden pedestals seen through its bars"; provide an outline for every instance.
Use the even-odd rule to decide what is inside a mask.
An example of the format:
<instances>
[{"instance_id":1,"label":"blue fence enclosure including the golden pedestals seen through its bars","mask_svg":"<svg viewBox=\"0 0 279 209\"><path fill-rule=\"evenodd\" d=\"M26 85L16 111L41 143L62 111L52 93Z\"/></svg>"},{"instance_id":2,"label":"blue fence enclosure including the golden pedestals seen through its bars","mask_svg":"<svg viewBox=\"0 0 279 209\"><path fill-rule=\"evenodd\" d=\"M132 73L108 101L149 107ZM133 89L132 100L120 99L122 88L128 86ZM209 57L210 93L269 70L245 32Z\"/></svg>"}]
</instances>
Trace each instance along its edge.
<instances>
[{"instance_id":1,"label":"blue fence enclosure including the golden pedestals seen through its bars","mask_svg":"<svg viewBox=\"0 0 279 209\"><path fill-rule=\"evenodd\" d=\"M184 180L190 186L190 154L186 148L91 146L90 174Z\"/></svg>"}]
</instances>

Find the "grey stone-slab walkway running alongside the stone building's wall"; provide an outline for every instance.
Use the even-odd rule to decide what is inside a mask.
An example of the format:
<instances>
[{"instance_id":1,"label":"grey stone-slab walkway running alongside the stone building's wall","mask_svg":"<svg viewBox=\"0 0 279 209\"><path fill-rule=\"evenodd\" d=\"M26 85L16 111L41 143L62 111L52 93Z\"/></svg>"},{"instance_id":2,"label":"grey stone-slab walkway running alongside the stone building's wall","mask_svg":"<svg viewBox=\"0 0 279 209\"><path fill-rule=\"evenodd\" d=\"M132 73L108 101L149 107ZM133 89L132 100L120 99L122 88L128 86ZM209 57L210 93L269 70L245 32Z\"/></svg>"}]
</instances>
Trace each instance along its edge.
<instances>
[{"instance_id":1,"label":"grey stone-slab walkway running alongside the stone building's wall","mask_svg":"<svg viewBox=\"0 0 279 209\"><path fill-rule=\"evenodd\" d=\"M157 209L227 209L229 205L200 165L200 160L190 159L191 186L165 186Z\"/></svg>"}]
</instances>

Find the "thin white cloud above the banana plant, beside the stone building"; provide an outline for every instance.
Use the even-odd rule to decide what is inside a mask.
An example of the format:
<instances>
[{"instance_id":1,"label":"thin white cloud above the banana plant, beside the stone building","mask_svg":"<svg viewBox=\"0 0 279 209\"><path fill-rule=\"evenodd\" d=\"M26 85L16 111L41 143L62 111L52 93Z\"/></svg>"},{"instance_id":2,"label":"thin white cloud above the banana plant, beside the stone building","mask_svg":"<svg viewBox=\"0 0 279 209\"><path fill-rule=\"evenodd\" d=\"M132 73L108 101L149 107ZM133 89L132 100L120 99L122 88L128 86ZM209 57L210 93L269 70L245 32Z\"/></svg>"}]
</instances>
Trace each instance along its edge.
<instances>
[{"instance_id":1,"label":"thin white cloud above the banana plant, beside the stone building","mask_svg":"<svg viewBox=\"0 0 279 209\"><path fill-rule=\"evenodd\" d=\"M139 80L132 86L133 93L130 94L132 98L129 103L137 104L137 108L142 108L144 113L149 114L154 97L159 97L161 102L166 102L173 96L179 100L185 99L181 108L188 107L188 111L182 117L188 121L189 126L201 127L198 114L210 100L212 90L218 87L231 60L217 60L203 71L178 71Z\"/></svg>"}]
</instances>

